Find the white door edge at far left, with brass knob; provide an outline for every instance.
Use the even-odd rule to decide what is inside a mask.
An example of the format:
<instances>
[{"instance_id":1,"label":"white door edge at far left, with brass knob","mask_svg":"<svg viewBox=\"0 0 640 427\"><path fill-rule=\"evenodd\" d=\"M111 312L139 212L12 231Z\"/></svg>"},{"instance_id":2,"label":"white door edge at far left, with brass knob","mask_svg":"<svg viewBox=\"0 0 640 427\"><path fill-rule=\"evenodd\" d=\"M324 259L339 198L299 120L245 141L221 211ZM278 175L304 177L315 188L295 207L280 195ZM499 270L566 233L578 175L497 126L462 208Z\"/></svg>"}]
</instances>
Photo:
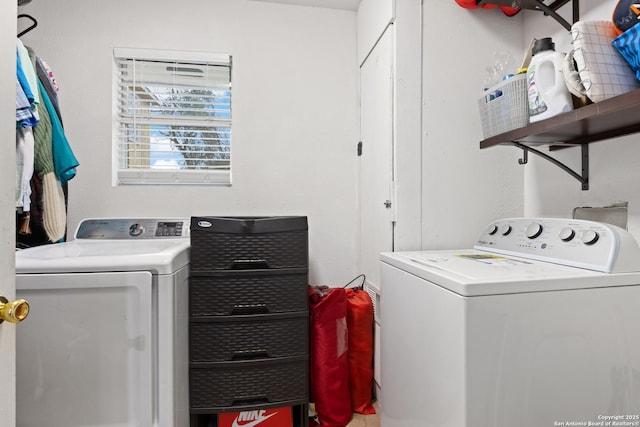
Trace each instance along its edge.
<instances>
[{"instance_id":1,"label":"white door edge at far left, with brass knob","mask_svg":"<svg viewBox=\"0 0 640 427\"><path fill-rule=\"evenodd\" d=\"M0 294L15 294L15 108L16 108L16 14L14 1L0 4ZM19 326L19 325L18 325ZM16 325L0 324L0 424L15 427L15 330Z\"/></svg>"}]
</instances>

